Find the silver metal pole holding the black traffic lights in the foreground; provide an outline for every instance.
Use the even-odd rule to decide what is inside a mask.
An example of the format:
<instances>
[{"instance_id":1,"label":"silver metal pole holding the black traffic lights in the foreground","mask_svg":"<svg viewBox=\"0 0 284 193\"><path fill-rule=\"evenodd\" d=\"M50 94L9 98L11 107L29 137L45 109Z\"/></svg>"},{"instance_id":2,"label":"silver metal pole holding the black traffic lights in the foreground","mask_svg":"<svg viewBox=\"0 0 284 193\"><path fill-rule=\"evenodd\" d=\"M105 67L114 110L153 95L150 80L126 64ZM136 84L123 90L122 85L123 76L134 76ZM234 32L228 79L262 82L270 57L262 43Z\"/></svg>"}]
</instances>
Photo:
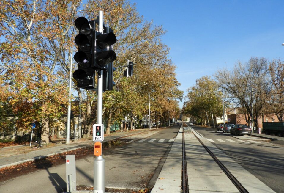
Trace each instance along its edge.
<instances>
[{"instance_id":1,"label":"silver metal pole holding the black traffic lights in the foreground","mask_svg":"<svg viewBox=\"0 0 284 193\"><path fill-rule=\"evenodd\" d=\"M99 11L99 32L103 34L103 12ZM103 84L103 70L98 70L98 113L97 123L102 124L102 84ZM94 159L94 193L105 192L105 160L101 156Z\"/></svg>"}]
</instances>

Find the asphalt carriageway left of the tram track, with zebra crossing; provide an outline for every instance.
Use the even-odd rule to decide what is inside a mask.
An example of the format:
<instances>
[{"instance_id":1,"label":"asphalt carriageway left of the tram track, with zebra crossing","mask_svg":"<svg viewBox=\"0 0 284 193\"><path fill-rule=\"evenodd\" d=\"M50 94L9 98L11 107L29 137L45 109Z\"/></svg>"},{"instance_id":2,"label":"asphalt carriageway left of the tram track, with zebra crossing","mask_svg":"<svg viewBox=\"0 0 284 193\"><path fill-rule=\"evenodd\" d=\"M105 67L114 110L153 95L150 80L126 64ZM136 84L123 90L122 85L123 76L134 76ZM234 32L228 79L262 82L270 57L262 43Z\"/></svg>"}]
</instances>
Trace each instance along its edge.
<instances>
[{"instance_id":1,"label":"asphalt carriageway left of the tram track, with zebra crossing","mask_svg":"<svg viewBox=\"0 0 284 193\"><path fill-rule=\"evenodd\" d=\"M110 189L144 189L154 185L180 126L144 132L121 139L120 146L103 149L105 187ZM76 160L77 185L93 185L94 156ZM63 192L66 166L45 168L0 183L9 193Z\"/></svg>"}]
</instances>

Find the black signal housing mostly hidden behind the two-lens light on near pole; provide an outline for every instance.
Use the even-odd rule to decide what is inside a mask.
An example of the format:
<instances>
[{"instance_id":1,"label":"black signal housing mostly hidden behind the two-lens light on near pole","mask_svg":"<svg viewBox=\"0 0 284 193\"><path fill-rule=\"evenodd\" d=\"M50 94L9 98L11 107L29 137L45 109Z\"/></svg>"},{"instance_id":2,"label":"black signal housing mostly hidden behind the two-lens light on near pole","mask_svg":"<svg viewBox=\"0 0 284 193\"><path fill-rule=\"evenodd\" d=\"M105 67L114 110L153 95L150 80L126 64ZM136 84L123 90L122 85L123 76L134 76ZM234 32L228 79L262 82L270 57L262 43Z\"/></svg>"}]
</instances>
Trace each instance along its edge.
<instances>
[{"instance_id":1,"label":"black signal housing mostly hidden behind the two-lens light on near pole","mask_svg":"<svg viewBox=\"0 0 284 193\"><path fill-rule=\"evenodd\" d=\"M104 32L110 33L112 32L112 29L110 27L106 27ZM109 46L108 50L113 51L113 45ZM115 82L113 82L113 71L115 71L115 68L113 67L113 61L112 61L106 65L106 70L103 71L103 84L102 84L103 91L113 90L113 86L115 85Z\"/></svg>"}]
</instances>

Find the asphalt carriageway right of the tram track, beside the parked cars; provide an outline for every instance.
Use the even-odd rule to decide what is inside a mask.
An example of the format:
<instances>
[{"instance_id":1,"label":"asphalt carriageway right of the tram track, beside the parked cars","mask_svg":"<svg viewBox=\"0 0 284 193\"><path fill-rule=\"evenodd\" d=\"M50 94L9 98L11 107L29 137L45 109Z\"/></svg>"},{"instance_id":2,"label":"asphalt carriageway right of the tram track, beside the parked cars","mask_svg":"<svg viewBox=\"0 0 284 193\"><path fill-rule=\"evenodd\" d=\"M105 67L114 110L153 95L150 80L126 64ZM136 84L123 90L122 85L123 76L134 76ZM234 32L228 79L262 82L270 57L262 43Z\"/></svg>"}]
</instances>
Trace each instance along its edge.
<instances>
[{"instance_id":1,"label":"asphalt carriageway right of the tram track, beside the parked cars","mask_svg":"<svg viewBox=\"0 0 284 193\"><path fill-rule=\"evenodd\" d=\"M284 145L223 134L212 128L193 126L193 129L275 192L284 192Z\"/></svg>"}]
</instances>

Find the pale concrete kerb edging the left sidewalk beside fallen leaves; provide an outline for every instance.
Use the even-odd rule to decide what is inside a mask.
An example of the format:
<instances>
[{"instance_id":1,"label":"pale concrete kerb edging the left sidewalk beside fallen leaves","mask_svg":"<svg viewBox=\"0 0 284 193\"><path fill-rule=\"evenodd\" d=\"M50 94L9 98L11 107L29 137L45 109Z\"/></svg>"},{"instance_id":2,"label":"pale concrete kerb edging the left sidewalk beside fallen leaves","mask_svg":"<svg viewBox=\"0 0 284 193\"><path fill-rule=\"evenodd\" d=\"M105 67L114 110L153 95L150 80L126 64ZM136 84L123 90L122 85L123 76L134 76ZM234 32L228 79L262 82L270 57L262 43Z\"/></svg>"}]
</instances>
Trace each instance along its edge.
<instances>
[{"instance_id":1,"label":"pale concrete kerb edging the left sidewalk beside fallen leaves","mask_svg":"<svg viewBox=\"0 0 284 193\"><path fill-rule=\"evenodd\" d=\"M166 127L165 127L165 128L166 128ZM106 140L106 141L104 141L103 143L106 143L106 142L109 142L109 141L114 141L114 140L116 140L116 139L120 139L120 138L127 137L127 136L132 136L132 135L136 135L136 134L141 134L141 133L146 132L146 131L153 131L153 130L156 130L156 129L160 129L160 128L148 129L148 130L141 131L141 132L138 132L138 133L135 133L135 134L128 134L128 135L124 135L124 136L119 136L119 137L116 137L116 138L114 138L114 139ZM35 161L35 160L43 159L43 158L46 158L46 157L49 157L49 156L54 156L54 155L57 155L57 154L60 154L60 153L66 153L66 152L73 151L73 150L76 150L76 149L90 148L90 147L92 147L93 145L94 145L93 143L92 143L92 144L86 144L86 145L84 145L84 146L82 146L82 147L71 148L71 149L68 149L68 150L63 150L63 151L51 153L51 154L44 155L44 156L37 156L37 157L31 158L31 159L26 159L26 160L17 161L17 162L10 163L10 164L1 165L1 166L0 166L0 169L1 169L1 168L4 168L4 167L10 167L10 166L15 166L15 165L23 164L23 163L26 163L26 162L29 162L29 161Z\"/></svg>"}]
</instances>

